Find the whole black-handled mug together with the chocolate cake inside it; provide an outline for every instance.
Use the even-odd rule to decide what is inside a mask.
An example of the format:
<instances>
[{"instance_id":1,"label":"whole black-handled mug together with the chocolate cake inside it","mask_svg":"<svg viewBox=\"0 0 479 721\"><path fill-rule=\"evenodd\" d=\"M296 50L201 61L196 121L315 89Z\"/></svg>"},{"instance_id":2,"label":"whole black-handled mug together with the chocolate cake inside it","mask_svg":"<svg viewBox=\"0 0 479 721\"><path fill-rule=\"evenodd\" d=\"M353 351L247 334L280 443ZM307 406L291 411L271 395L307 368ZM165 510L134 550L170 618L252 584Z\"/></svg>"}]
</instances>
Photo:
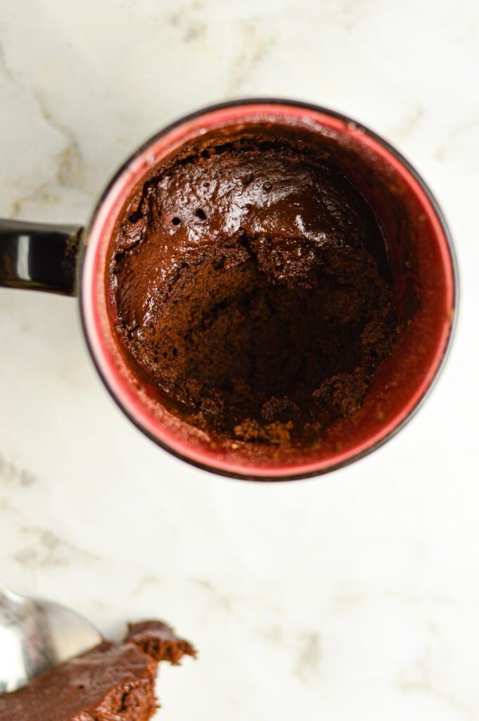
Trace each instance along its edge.
<instances>
[{"instance_id":1,"label":"whole black-handled mug together with the chocolate cake inside it","mask_svg":"<svg viewBox=\"0 0 479 721\"><path fill-rule=\"evenodd\" d=\"M315 476L374 451L429 394L455 326L452 239L424 180L303 102L180 118L85 228L0 221L0 237L0 286L78 294L125 415L230 477Z\"/></svg>"}]
</instances>

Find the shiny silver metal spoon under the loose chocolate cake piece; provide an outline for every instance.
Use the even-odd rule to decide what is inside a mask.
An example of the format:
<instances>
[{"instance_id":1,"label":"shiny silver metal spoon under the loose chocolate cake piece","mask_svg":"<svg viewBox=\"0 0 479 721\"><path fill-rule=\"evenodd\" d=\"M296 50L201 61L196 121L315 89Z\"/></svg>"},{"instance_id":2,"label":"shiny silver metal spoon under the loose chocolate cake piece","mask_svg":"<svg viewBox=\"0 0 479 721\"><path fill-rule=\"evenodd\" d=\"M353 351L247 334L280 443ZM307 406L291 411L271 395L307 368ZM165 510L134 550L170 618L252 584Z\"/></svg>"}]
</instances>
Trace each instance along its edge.
<instances>
[{"instance_id":1,"label":"shiny silver metal spoon under the loose chocolate cake piece","mask_svg":"<svg viewBox=\"0 0 479 721\"><path fill-rule=\"evenodd\" d=\"M97 629L75 611L17 596L0 583L0 692L19 689L100 642Z\"/></svg>"}]
</instances>

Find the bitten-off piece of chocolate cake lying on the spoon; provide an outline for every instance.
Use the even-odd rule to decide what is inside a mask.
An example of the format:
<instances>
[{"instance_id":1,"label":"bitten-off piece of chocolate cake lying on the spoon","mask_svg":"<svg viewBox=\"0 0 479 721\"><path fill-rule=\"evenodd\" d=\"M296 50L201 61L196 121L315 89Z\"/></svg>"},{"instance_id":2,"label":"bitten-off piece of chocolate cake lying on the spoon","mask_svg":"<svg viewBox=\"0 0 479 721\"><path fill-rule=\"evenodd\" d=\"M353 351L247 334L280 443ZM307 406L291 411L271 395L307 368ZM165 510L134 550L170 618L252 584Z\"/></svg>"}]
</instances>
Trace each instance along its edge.
<instances>
[{"instance_id":1,"label":"bitten-off piece of chocolate cake lying on the spoon","mask_svg":"<svg viewBox=\"0 0 479 721\"><path fill-rule=\"evenodd\" d=\"M146 721L157 708L158 662L177 664L185 653L196 654L166 624L130 624L124 641L104 640L0 694L0 721Z\"/></svg>"}]
</instances>

